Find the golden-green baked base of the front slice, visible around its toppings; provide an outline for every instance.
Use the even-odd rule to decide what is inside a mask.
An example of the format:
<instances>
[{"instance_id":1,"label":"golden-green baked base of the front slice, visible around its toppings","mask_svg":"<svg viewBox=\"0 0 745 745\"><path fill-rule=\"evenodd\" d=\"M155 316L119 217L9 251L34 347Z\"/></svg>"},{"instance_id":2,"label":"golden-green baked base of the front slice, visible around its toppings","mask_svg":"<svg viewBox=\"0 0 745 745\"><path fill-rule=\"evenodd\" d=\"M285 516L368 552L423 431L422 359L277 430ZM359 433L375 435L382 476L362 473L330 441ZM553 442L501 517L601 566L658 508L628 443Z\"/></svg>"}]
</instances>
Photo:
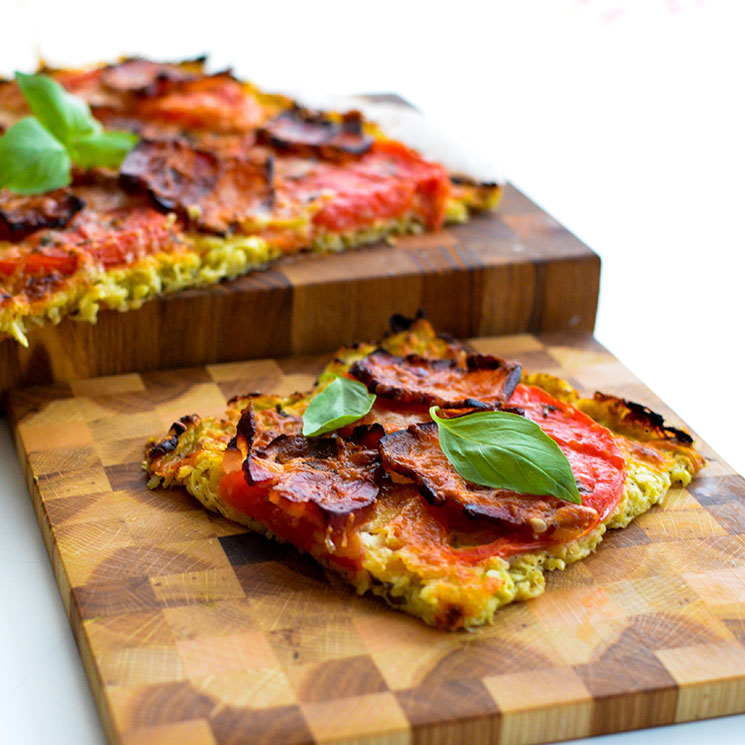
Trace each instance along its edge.
<instances>
[{"instance_id":1,"label":"golden-green baked base of the front slice, visible around its toppings","mask_svg":"<svg viewBox=\"0 0 745 745\"><path fill-rule=\"evenodd\" d=\"M381 346L394 354L413 352L429 358L452 357L459 349L449 339L438 337L422 320L389 336ZM238 397L230 402L223 419L192 415L179 420L167 438L148 444L144 463L150 473L148 485L184 487L206 508L281 541L267 525L234 509L220 494L226 446L235 436L241 411L250 401L256 411L278 408L300 416L310 398L333 376L374 349L375 345L358 344L340 350L309 394L285 398ZM544 373L524 374L523 381L584 411L607 427L621 445L627 471L623 492L618 504L600 524L575 540L507 558L487 556L467 567L430 563L422 559L421 552L402 544L391 528L393 515L416 508L414 500L418 500L418 495L403 491L393 498L380 499L381 506L357 526L364 552L360 568L344 569L330 563L322 547L310 549L314 558L344 574L358 593L372 592L391 607L418 616L432 626L470 629L491 624L501 606L540 595L547 571L562 570L588 556L608 529L626 527L663 501L673 483L687 485L704 464L684 433L666 428L661 418L644 407L602 394L583 399L566 381Z\"/></svg>"}]
</instances>

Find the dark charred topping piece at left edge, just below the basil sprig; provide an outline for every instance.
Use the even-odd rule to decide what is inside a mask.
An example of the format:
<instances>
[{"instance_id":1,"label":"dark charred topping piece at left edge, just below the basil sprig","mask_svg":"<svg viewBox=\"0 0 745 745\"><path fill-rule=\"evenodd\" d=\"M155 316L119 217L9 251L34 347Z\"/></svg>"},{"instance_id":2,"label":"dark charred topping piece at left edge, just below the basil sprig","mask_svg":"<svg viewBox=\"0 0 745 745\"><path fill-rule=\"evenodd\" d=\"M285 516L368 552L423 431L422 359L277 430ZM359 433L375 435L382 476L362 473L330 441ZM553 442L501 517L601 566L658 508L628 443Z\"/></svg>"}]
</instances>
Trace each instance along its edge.
<instances>
[{"instance_id":1,"label":"dark charred topping piece at left edge, just below the basil sprig","mask_svg":"<svg viewBox=\"0 0 745 745\"><path fill-rule=\"evenodd\" d=\"M85 207L67 189L19 195L0 190L0 240L20 241L40 228L62 228Z\"/></svg>"}]
</instances>

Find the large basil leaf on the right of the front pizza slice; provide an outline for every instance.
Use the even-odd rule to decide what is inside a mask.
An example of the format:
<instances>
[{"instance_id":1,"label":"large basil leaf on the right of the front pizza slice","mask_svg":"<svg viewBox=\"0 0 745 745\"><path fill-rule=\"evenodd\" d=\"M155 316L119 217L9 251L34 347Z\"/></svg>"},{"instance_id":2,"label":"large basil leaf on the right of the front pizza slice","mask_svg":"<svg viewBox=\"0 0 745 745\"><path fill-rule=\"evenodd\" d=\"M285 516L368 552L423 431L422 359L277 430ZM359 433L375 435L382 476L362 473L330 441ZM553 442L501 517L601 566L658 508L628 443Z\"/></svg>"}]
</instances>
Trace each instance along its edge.
<instances>
[{"instance_id":1,"label":"large basil leaf on the right of the front pizza slice","mask_svg":"<svg viewBox=\"0 0 745 745\"><path fill-rule=\"evenodd\" d=\"M535 422L506 411L479 411L437 422L440 447L467 481L582 504L572 467Z\"/></svg>"}]
</instances>

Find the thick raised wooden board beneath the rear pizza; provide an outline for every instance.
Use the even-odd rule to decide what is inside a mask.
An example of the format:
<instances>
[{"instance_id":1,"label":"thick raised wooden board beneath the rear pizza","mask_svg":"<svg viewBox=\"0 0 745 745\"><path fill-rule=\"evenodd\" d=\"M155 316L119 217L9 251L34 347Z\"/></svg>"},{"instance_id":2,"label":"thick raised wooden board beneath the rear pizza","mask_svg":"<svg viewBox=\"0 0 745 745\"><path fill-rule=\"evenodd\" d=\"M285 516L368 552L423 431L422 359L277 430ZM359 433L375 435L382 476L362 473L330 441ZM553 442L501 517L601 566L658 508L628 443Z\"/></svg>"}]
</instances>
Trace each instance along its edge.
<instances>
[{"instance_id":1,"label":"thick raised wooden board beneath the rear pizza","mask_svg":"<svg viewBox=\"0 0 745 745\"><path fill-rule=\"evenodd\" d=\"M514 187L467 225L344 254L303 256L234 282L64 320L0 342L12 388L131 371L332 351L422 308L464 338L592 331L600 259Z\"/></svg>"}]
</instances>

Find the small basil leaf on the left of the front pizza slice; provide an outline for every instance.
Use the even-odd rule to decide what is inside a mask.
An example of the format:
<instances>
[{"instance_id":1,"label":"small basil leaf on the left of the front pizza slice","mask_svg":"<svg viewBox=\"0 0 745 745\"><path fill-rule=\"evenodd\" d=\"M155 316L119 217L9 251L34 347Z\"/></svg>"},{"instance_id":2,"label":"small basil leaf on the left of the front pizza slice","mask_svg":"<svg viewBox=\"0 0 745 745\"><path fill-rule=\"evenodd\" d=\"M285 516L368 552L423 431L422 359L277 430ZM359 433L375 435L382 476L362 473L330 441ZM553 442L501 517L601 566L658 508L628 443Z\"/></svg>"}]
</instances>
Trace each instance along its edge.
<instances>
[{"instance_id":1,"label":"small basil leaf on the left of the front pizza slice","mask_svg":"<svg viewBox=\"0 0 745 745\"><path fill-rule=\"evenodd\" d=\"M303 435L318 437L362 419L375 396L358 380L335 378L308 404L303 415Z\"/></svg>"}]
</instances>

